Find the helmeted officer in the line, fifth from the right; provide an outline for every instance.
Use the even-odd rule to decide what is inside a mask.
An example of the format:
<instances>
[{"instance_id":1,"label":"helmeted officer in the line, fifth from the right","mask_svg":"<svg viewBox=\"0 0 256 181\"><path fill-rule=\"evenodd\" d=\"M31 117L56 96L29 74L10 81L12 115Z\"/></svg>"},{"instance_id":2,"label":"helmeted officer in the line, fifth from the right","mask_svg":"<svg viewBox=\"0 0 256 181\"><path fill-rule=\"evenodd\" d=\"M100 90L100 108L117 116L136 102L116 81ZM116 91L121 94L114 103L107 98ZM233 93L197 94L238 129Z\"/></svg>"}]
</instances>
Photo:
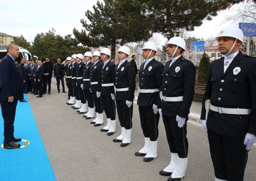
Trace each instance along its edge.
<instances>
[{"instance_id":1,"label":"helmeted officer in the line, fifth from the right","mask_svg":"<svg viewBox=\"0 0 256 181\"><path fill-rule=\"evenodd\" d=\"M100 51L100 59L103 60L101 72L101 100L107 117L107 125L101 129L102 132L108 132L107 135L113 135L116 132L116 104L114 103L114 67L109 57L111 51L103 48Z\"/></svg>"}]
</instances>

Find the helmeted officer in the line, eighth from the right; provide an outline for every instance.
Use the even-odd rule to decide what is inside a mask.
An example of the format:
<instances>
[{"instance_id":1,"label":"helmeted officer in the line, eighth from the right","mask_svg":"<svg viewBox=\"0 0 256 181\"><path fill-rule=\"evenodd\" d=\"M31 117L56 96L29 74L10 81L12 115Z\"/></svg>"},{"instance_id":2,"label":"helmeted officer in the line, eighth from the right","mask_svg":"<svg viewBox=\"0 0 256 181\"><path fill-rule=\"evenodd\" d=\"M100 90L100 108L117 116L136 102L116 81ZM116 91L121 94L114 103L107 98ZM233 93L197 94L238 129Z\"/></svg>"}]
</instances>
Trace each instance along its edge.
<instances>
[{"instance_id":1,"label":"helmeted officer in the line, eighth from the right","mask_svg":"<svg viewBox=\"0 0 256 181\"><path fill-rule=\"evenodd\" d=\"M84 74L84 67L85 67L85 64L83 62L84 56L83 54L78 53L76 57L78 58L78 65L76 66L76 86L78 87L78 94L82 103L81 108L76 112L78 114L85 114L87 112L86 99L85 99L84 91L81 88L81 84L83 83L83 74Z\"/></svg>"}]
</instances>

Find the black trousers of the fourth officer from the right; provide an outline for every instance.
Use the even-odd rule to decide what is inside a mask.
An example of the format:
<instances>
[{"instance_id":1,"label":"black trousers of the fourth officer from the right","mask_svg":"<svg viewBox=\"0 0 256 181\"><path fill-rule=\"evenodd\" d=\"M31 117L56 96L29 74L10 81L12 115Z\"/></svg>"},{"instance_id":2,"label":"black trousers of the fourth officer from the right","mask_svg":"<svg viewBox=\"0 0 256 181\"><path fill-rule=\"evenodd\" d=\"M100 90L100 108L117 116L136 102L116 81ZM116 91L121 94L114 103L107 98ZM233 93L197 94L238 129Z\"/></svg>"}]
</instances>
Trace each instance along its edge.
<instances>
[{"instance_id":1,"label":"black trousers of the fourth officer from the right","mask_svg":"<svg viewBox=\"0 0 256 181\"><path fill-rule=\"evenodd\" d=\"M125 100L116 100L116 104L121 127L124 127L126 130L130 130L133 127L133 104L131 107L128 107Z\"/></svg>"}]
</instances>

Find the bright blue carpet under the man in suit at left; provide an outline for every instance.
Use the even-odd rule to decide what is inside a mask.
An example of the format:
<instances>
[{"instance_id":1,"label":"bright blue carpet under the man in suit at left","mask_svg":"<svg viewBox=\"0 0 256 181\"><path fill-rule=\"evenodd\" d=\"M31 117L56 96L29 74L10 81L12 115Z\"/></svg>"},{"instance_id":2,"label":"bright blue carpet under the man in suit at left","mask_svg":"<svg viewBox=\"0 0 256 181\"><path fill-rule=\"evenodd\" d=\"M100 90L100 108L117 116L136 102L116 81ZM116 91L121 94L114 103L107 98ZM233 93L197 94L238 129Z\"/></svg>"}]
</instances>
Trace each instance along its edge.
<instances>
[{"instance_id":1,"label":"bright blue carpet under the man in suit at left","mask_svg":"<svg viewBox=\"0 0 256 181\"><path fill-rule=\"evenodd\" d=\"M27 95L24 99L28 100ZM30 142L20 149L4 149L4 120L0 109L0 180L56 180L29 102L18 102L15 118L16 137ZM24 142L19 142L24 145Z\"/></svg>"}]
</instances>

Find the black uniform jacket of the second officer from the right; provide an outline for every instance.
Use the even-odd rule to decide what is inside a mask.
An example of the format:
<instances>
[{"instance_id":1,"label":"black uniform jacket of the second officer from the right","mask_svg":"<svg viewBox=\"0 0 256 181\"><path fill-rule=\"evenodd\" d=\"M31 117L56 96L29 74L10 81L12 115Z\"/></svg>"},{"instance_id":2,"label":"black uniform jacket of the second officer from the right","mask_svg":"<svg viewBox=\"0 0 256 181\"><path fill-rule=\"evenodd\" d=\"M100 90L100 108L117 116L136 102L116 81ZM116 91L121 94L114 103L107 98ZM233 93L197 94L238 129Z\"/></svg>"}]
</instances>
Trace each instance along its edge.
<instances>
[{"instance_id":1,"label":"black uniform jacket of the second officer from the right","mask_svg":"<svg viewBox=\"0 0 256 181\"><path fill-rule=\"evenodd\" d=\"M196 69L191 61L182 56L171 66L170 63L171 61L168 61L163 70L162 94L166 97L183 96L183 101L164 102L162 100L162 113L165 116L178 115L187 118L195 92Z\"/></svg>"}]
</instances>

